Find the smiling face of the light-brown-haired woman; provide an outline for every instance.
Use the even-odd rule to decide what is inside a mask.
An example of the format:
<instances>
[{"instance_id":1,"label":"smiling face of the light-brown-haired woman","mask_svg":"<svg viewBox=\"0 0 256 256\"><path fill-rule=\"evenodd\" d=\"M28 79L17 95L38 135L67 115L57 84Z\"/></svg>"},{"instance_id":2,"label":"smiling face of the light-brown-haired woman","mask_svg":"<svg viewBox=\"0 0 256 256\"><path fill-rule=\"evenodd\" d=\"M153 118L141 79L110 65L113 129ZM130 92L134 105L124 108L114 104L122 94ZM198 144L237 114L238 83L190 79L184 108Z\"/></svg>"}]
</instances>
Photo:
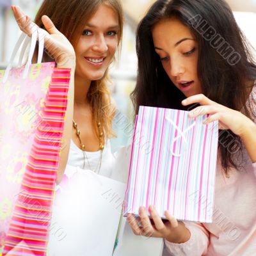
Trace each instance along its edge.
<instances>
[{"instance_id":1,"label":"smiling face of the light-brown-haired woman","mask_svg":"<svg viewBox=\"0 0 256 256\"><path fill-rule=\"evenodd\" d=\"M76 77L89 81L101 79L118 47L118 16L101 4L86 22L76 44Z\"/></svg>"}]
</instances>

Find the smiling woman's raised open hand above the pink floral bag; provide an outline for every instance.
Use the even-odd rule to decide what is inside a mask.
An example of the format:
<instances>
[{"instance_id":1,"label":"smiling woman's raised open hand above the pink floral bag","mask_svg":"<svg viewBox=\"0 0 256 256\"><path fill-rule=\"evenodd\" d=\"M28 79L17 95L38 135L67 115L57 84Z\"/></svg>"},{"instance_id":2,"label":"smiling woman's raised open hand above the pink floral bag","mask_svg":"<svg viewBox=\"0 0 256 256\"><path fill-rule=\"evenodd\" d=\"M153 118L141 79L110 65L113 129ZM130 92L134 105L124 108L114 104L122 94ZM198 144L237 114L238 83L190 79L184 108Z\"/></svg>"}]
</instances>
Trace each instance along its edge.
<instances>
[{"instance_id":1,"label":"smiling woman's raised open hand above the pink floral bag","mask_svg":"<svg viewBox=\"0 0 256 256\"><path fill-rule=\"evenodd\" d=\"M22 12L19 6L12 6L12 11L21 31L31 36L33 31L38 29L38 26ZM76 65L76 54L72 44L55 28L49 17L44 15L42 22L47 30L41 30L44 33L44 44L47 53L56 61L58 67L74 68Z\"/></svg>"}]
</instances>

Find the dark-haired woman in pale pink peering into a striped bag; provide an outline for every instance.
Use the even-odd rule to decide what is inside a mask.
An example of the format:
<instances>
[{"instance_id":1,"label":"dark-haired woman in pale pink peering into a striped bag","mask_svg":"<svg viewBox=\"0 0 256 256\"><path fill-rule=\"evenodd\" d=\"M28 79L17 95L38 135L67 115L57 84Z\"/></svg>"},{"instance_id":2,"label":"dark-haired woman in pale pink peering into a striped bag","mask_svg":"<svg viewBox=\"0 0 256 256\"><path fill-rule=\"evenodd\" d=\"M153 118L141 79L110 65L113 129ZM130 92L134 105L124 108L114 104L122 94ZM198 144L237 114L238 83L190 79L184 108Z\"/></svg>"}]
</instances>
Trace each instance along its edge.
<instances>
[{"instance_id":1,"label":"dark-haired woman in pale pink peering into a striped bag","mask_svg":"<svg viewBox=\"0 0 256 256\"><path fill-rule=\"evenodd\" d=\"M135 234L163 237L168 255L254 255L256 248L256 65L230 7L223 0L160 0L137 31L139 106L210 114L220 136L213 223L163 223L153 206L151 225L128 217ZM192 106L191 106L192 104ZM195 156L196 157L196 156ZM146 232L147 231L147 232Z\"/></svg>"}]
</instances>

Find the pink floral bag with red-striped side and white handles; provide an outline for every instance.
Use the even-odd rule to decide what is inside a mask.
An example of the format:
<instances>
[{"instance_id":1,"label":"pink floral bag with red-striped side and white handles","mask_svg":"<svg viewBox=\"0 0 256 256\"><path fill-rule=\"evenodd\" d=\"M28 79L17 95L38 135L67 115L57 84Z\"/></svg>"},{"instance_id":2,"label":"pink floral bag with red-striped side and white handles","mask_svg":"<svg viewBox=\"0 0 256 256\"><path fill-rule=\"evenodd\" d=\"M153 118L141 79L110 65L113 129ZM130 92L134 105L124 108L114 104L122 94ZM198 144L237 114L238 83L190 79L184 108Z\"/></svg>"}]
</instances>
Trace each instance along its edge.
<instances>
[{"instance_id":1,"label":"pink floral bag with red-striped side and white handles","mask_svg":"<svg viewBox=\"0 0 256 256\"><path fill-rule=\"evenodd\" d=\"M37 35L38 63L31 65ZM21 51L24 52L29 41L25 67L11 68L20 45L24 42ZM46 255L70 69L55 68L55 63L40 63L43 49L40 29L31 38L22 34L11 64L0 71L0 250L3 255Z\"/></svg>"}]
</instances>

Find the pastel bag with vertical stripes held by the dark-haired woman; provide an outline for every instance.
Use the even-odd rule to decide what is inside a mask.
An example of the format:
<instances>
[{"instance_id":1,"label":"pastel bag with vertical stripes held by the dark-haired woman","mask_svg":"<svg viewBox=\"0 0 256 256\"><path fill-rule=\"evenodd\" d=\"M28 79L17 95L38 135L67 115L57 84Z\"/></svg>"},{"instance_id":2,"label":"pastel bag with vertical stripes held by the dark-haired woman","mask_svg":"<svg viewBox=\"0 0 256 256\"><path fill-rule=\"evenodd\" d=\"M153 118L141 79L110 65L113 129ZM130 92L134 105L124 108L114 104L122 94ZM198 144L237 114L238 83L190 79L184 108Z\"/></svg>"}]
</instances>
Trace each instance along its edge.
<instances>
[{"instance_id":1,"label":"pastel bag with vertical stripes held by the dark-haired woman","mask_svg":"<svg viewBox=\"0 0 256 256\"><path fill-rule=\"evenodd\" d=\"M154 205L164 217L212 222L218 122L188 111L141 106L134 129L124 216Z\"/></svg>"}]
</instances>

